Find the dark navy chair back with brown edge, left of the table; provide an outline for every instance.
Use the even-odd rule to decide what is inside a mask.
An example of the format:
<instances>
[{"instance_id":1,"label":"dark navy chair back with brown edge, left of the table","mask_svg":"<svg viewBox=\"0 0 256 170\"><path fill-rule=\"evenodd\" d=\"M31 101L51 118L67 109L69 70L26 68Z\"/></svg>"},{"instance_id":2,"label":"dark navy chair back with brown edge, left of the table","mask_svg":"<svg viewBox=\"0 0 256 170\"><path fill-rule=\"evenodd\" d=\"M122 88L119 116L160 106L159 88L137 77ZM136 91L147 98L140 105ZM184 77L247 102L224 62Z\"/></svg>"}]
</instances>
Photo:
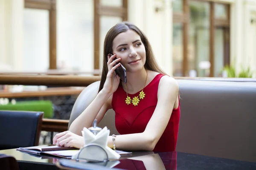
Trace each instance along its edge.
<instances>
[{"instance_id":1,"label":"dark navy chair back with brown edge, left of the table","mask_svg":"<svg viewBox=\"0 0 256 170\"><path fill-rule=\"evenodd\" d=\"M43 112L0 111L0 150L39 144Z\"/></svg>"}]
</instances>

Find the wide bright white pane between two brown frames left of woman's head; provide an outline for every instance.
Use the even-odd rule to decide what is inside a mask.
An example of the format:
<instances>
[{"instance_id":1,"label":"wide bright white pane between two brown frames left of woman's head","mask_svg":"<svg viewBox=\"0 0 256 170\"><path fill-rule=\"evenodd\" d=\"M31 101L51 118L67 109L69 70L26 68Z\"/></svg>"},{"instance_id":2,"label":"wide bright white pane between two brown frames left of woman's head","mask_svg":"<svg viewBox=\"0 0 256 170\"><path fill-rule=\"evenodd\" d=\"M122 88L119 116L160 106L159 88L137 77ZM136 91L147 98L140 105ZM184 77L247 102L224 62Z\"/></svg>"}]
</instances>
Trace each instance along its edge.
<instances>
[{"instance_id":1,"label":"wide bright white pane between two brown frames left of woman's head","mask_svg":"<svg viewBox=\"0 0 256 170\"><path fill-rule=\"evenodd\" d=\"M94 69L93 0L57 0L57 66Z\"/></svg>"}]
</instances>

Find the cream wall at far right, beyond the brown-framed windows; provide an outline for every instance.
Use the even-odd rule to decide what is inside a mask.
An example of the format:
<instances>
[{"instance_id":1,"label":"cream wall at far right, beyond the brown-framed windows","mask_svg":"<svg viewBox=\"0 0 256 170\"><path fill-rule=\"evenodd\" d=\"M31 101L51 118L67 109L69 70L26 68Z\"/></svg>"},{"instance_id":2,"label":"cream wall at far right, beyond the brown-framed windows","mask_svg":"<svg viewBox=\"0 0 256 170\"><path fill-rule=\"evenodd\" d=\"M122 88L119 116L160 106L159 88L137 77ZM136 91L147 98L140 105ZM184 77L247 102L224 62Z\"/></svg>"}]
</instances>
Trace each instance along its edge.
<instances>
[{"instance_id":1,"label":"cream wall at far right, beyond the brown-framed windows","mask_svg":"<svg viewBox=\"0 0 256 170\"><path fill-rule=\"evenodd\" d=\"M253 77L256 77L256 63L253 63L256 58L253 56L256 41L251 40L256 37L251 36L254 34L254 30L250 24L253 11L256 11L256 1L254 0L234 0L231 5L230 58L231 64L235 64L237 72L241 71L241 66L250 67L254 72Z\"/></svg>"}]
</instances>

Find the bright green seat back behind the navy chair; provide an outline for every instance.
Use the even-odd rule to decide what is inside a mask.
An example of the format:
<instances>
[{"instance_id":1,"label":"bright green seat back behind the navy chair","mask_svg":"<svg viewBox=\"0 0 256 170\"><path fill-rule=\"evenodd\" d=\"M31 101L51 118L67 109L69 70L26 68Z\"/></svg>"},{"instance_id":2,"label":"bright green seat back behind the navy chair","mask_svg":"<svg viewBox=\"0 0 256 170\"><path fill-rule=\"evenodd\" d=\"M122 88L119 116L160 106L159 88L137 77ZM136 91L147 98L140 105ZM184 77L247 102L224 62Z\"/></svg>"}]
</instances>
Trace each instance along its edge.
<instances>
[{"instance_id":1,"label":"bright green seat back behind the navy chair","mask_svg":"<svg viewBox=\"0 0 256 170\"><path fill-rule=\"evenodd\" d=\"M0 105L0 110L41 111L44 112L44 118L53 117L52 102L49 100L22 101L16 102L15 105L9 103L8 105Z\"/></svg>"}]
</instances>

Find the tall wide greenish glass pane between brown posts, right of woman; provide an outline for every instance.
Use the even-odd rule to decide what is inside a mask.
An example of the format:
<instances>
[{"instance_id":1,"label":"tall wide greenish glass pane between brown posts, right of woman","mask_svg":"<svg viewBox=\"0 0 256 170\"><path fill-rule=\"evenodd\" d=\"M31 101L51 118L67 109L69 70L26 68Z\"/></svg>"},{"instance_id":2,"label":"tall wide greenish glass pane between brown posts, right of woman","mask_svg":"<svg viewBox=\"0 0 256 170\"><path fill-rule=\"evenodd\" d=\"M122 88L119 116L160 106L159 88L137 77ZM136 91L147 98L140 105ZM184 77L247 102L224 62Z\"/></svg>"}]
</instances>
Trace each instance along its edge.
<instances>
[{"instance_id":1,"label":"tall wide greenish glass pane between brown posts, right of woman","mask_svg":"<svg viewBox=\"0 0 256 170\"><path fill-rule=\"evenodd\" d=\"M188 68L186 76L209 77L209 11L207 2L190 1Z\"/></svg>"}]
</instances>

